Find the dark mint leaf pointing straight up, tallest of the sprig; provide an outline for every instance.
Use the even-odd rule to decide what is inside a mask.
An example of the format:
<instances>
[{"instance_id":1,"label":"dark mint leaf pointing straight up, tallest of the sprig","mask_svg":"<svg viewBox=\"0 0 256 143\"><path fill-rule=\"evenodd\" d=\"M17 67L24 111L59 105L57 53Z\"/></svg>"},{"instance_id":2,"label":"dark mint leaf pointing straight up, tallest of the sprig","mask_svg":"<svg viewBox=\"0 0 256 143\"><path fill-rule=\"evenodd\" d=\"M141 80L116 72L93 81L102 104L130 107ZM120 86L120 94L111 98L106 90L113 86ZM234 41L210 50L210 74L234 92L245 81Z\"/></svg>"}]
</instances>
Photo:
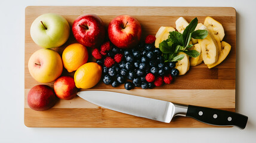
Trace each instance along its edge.
<instances>
[{"instance_id":1,"label":"dark mint leaf pointing straight up, tallest of the sprig","mask_svg":"<svg viewBox=\"0 0 256 143\"><path fill-rule=\"evenodd\" d=\"M183 31L183 40L184 40L184 46L187 46L188 43L189 43L189 37L191 38L190 36L190 33L192 33L193 31L195 31L196 29L196 26L198 25L198 18L194 18L190 23L189 25L186 27L186 29Z\"/></svg>"}]
</instances>

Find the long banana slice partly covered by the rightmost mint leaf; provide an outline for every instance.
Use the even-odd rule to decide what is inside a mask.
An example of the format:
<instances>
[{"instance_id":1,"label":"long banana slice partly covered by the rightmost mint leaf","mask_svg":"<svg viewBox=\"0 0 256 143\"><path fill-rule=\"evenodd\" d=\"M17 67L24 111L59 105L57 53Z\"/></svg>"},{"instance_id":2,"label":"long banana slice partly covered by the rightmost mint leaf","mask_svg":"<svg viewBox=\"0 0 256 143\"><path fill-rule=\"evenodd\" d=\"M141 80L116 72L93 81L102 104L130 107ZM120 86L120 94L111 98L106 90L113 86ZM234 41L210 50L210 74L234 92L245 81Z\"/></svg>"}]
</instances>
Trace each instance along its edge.
<instances>
[{"instance_id":1,"label":"long banana slice partly covered by the rightmost mint leaf","mask_svg":"<svg viewBox=\"0 0 256 143\"><path fill-rule=\"evenodd\" d=\"M199 29L208 30L204 25ZM218 60L219 46L214 36L209 32L205 39L198 39L198 43L201 46L202 58L205 64L214 64Z\"/></svg>"}]
</instances>

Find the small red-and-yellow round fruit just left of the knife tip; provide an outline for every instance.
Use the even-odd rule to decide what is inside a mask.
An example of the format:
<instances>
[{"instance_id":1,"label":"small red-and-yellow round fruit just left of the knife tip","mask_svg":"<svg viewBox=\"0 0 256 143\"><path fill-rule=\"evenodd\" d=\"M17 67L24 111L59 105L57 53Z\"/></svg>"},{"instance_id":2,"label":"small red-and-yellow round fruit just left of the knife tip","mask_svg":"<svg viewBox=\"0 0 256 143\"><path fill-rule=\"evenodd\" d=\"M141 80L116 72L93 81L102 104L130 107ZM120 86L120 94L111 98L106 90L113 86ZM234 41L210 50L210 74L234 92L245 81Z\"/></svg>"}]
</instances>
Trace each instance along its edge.
<instances>
[{"instance_id":1,"label":"small red-and-yellow round fruit just left of the knife tip","mask_svg":"<svg viewBox=\"0 0 256 143\"><path fill-rule=\"evenodd\" d=\"M55 80L53 88L57 97L63 100L72 100L78 92L75 81L70 76L59 77Z\"/></svg>"}]
</instances>

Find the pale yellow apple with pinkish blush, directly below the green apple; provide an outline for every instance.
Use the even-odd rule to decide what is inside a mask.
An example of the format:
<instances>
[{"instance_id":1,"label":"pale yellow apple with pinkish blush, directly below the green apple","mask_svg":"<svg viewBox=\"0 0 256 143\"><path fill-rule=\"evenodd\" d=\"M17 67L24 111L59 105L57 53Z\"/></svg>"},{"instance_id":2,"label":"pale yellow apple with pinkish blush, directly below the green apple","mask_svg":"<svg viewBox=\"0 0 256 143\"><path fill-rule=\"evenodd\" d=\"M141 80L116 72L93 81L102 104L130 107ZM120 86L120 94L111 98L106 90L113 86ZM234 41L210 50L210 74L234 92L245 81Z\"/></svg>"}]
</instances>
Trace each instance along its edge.
<instances>
[{"instance_id":1,"label":"pale yellow apple with pinkish blush, directly below the green apple","mask_svg":"<svg viewBox=\"0 0 256 143\"><path fill-rule=\"evenodd\" d=\"M63 70L58 52L53 49L39 49L29 58L29 73L38 82L48 83L57 79Z\"/></svg>"}]
</instances>

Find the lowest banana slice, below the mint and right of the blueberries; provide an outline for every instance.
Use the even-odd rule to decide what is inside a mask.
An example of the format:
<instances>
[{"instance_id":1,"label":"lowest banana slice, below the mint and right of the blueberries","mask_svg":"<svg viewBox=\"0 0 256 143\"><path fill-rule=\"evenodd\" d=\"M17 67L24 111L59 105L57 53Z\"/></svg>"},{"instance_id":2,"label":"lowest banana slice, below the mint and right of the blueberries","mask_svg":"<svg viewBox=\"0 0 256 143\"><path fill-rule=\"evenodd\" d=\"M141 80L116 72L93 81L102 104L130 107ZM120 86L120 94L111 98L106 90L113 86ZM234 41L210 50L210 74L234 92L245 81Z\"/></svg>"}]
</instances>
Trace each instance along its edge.
<instances>
[{"instance_id":1,"label":"lowest banana slice, below the mint and right of the blueberries","mask_svg":"<svg viewBox=\"0 0 256 143\"><path fill-rule=\"evenodd\" d=\"M189 56L187 54L185 54L184 52L179 52L177 55L183 54L184 58L180 61L177 61L176 65L175 65L175 69L178 69L179 71L179 75L183 75L185 73L187 73L187 71L189 70Z\"/></svg>"}]
</instances>

